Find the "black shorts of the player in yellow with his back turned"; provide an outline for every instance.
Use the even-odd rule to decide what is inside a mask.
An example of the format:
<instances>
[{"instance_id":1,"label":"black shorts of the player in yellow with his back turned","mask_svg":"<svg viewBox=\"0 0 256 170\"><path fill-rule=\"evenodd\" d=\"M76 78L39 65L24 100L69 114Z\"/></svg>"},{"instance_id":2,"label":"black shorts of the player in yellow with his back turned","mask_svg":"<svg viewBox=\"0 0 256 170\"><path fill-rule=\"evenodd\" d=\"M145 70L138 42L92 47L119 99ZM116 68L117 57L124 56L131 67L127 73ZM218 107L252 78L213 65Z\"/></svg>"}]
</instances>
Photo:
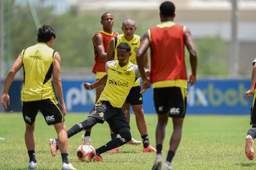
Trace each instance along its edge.
<instances>
[{"instance_id":1,"label":"black shorts of the player in yellow with his back turned","mask_svg":"<svg viewBox=\"0 0 256 170\"><path fill-rule=\"evenodd\" d=\"M36 119L38 110L41 111L48 125L64 121L64 116L58 104L57 97L51 99L22 102L22 115L27 124L32 125Z\"/></svg>"}]
</instances>

